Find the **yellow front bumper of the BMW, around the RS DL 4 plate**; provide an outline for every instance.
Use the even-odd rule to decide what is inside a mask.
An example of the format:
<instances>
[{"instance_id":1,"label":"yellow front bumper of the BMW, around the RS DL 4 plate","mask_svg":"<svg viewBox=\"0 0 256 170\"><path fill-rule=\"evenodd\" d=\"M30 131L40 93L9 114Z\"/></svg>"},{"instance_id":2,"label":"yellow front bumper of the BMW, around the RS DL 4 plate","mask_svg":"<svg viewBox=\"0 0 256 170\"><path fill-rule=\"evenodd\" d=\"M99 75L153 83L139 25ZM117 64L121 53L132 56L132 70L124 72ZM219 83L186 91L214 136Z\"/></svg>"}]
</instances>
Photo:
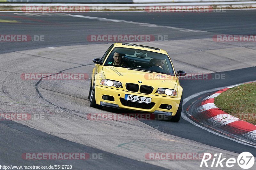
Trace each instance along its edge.
<instances>
[{"instance_id":1,"label":"yellow front bumper of the BMW, around the RS DL 4 plate","mask_svg":"<svg viewBox=\"0 0 256 170\"><path fill-rule=\"evenodd\" d=\"M134 102L131 103L131 102L127 102L126 100L123 100L125 94L142 96L142 97L150 97L152 98L151 104L150 105L142 104L144 108L139 108L141 107L140 104L134 103ZM115 101L103 100L102 99L103 95L113 96ZM176 112L180 104L180 98L148 95L148 94L142 94L138 92L126 92L124 90L113 89L113 88L103 87L99 85L95 86L95 100L98 105L102 105L102 106L124 108L124 109L130 109L130 110L136 110L136 111L142 111L142 112L151 112L153 114L168 115L168 116L176 115ZM161 104L172 105L172 108L170 110L159 108Z\"/></svg>"}]
</instances>

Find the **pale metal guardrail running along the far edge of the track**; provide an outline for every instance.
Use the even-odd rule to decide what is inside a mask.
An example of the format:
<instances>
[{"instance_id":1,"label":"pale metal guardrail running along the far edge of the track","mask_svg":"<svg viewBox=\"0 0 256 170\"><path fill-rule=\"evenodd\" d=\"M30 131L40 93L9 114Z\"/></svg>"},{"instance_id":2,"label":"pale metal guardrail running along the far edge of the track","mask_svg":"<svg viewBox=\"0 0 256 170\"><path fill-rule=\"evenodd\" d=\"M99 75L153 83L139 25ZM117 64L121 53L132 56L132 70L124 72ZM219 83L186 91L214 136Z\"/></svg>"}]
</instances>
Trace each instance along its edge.
<instances>
[{"instance_id":1,"label":"pale metal guardrail running along the far edge of the track","mask_svg":"<svg viewBox=\"0 0 256 170\"><path fill-rule=\"evenodd\" d=\"M24 11L25 6L84 6L92 11L145 11L156 7L212 6L219 8L256 8L252 0L0 0L0 11ZM205 7L203 7L205 8ZM158 8L157 8L158 9ZM156 11L157 11L156 9ZM178 8L177 8L178 9ZM33 11L33 10L32 10Z\"/></svg>"}]
</instances>

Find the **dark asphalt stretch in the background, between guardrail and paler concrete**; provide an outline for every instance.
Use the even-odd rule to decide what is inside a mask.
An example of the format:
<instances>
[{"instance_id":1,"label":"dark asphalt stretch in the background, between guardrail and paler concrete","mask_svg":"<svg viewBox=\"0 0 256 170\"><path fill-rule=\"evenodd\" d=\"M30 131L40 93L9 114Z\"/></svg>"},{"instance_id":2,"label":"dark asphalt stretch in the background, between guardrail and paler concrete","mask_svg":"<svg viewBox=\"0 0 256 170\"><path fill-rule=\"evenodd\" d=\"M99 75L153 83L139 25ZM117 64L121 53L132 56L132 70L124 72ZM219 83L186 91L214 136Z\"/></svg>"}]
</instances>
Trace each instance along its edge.
<instances>
[{"instance_id":1,"label":"dark asphalt stretch in the background, between guardrail and paler concrete","mask_svg":"<svg viewBox=\"0 0 256 170\"><path fill-rule=\"evenodd\" d=\"M210 38L216 33L220 34L255 34L254 10L222 11L209 13L159 13L159 12L85 12L69 13L71 15L86 15L102 18L121 19L127 21L156 24L160 26L173 26L194 30L207 31L205 33L187 33L169 31L154 27L134 27L133 24L121 22L98 22L97 20L68 17L63 14L56 15L24 15L18 13L0 13L3 20L16 20L21 23L1 22L1 34L29 34L44 35L44 41L19 43L12 42L0 47L0 53L19 51L25 49L56 47L64 45L92 44L86 41L88 35L106 34L150 34L168 35L168 40ZM35 13L34 13L35 14ZM138 17L139 16L139 17ZM19 27L19 29L16 29ZM100 42L97 42L100 43ZM105 43L105 42L101 42ZM6 44L6 43L5 43Z\"/></svg>"}]
</instances>

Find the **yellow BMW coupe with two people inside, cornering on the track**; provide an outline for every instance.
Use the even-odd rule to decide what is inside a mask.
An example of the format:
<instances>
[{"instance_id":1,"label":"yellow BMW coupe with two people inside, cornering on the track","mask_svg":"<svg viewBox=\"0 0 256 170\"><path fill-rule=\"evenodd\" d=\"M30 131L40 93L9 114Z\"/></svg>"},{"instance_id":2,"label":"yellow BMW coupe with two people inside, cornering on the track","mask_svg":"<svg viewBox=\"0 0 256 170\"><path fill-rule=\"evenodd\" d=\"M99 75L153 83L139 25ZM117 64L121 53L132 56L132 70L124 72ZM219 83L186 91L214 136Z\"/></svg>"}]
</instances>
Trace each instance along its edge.
<instances>
[{"instance_id":1,"label":"yellow BMW coupe with two people inside, cornering on the track","mask_svg":"<svg viewBox=\"0 0 256 170\"><path fill-rule=\"evenodd\" d=\"M114 43L92 60L91 107L124 108L164 115L179 122L182 87L167 52L138 44Z\"/></svg>"}]
</instances>

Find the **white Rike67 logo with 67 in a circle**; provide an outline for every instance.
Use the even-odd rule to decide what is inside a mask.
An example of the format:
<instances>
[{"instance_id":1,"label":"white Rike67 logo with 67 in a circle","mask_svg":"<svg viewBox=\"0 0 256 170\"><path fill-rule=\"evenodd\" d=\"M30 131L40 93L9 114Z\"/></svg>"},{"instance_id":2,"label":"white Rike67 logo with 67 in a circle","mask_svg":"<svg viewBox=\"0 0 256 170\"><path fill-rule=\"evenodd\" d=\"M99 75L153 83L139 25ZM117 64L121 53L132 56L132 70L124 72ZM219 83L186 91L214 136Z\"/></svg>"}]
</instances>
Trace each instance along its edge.
<instances>
[{"instance_id":1,"label":"white Rike67 logo with 67 in a circle","mask_svg":"<svg viewBox=\"0 0 256 170\"><path fill-rule=\"evenodd\" d=\"M216 160L217 159L217 160ZM204 153L203 159L201 161L200 167L224 167L223 164L226 161L226 163L224 164L226 167L231 168L233 167L236 163L243 169L249 169L253 166L254 164L254 157L250 152L242 152L238 155L237 159L235 158L229 158L228 160L226 160L227 158L223 158L222 159L222 153L218 154L215 153L214 157L212 158L212 154L211 153ZM208 163L210 163L210 165L208 166L207 161L209 161Z\"/></svg>"}]
</instances>

